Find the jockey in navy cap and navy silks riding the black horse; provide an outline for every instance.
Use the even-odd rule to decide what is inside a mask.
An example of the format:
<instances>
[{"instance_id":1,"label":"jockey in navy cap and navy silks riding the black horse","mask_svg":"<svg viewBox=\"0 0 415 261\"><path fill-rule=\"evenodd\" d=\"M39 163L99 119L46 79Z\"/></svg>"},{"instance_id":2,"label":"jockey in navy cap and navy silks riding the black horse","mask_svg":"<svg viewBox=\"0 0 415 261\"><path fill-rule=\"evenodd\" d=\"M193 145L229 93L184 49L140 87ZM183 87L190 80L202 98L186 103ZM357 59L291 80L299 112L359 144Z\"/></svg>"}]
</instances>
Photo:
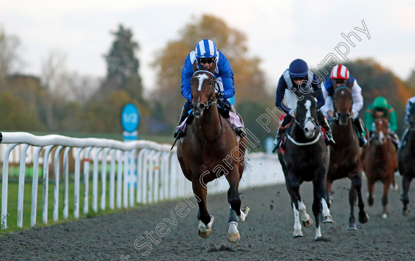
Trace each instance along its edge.
<instances>
[{"instance_id":1,"label":"jockey in navy cap and navy silks riding the black horse","mask_svg":"<svg viewBox=\"0 0 415 261\"><path fill-rule=\"evenodd\" d=\"M305 61L295 59L290 63L289 69L283 73L277 87L275 106L287 114L280 123L280 128L274 141L277 146L279 146L281 142L282 135L286 129L285 127L295 116L296 103L297 100L301 98L301 95L297 96L292 90L296 90L296 93L302 91L304 94L310 92L310 88L313 88L313 91L319 91L316 97L317 108L319 109L324 105L324 96L320 91L320 85L321 83L317 77L313 72L308 70L308 65ZM330 126L320 110L317 110L317 120L321 127L326 131L329 144L335 144Z\"/></svg>"}]
</instances>

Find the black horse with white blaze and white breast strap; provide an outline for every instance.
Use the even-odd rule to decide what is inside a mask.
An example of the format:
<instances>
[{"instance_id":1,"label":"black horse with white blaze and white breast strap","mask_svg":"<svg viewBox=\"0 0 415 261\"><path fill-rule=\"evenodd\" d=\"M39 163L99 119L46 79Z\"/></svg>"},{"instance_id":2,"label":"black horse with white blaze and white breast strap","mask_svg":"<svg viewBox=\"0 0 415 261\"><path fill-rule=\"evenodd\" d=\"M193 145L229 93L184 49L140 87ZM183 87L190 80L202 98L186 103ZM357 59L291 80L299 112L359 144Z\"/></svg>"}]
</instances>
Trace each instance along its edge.
<instances>
[{"instance_id":1,"label":"black horse with white blaze and white breast strap","mask_svg":"<svg viewBox=\"0 0 415 261\"><path fill-rule=\"evenodd\" d=\"M323 223L333 222L326 202L325 184L329 169L329 149L317 124L317 102L311 93L297 101L294 123L289 127L284 153L277 150L287 190L291 197L294 212L293 237L303 236L301 221L305 227L313 220L305 211L300 195L300 184L313 182L313 214L316 222L316 239L321 238L320 216Z\"/></svg>"}]
</instances>

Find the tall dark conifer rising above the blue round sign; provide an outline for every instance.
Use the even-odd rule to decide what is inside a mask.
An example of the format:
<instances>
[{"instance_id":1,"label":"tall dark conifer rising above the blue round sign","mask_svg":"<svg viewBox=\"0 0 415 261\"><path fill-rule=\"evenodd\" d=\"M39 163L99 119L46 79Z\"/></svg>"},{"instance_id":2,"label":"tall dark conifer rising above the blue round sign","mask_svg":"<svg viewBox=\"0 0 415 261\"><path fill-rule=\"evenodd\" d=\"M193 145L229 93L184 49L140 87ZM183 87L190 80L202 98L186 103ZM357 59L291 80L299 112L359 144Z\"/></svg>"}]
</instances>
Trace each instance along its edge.
<instances>
[{"instance_id":1,"label":"tall dark conifer rising above the blue round sign","mask_svg":"<svg viewBox=\"0 0 415 261\"><path fill-rule=\"evenodd\" d=\"M138 74L139 61L135 52L139 50L138 43L132 40L130 29L119 25L117 32L112 32L115 40L105 60L107 62L107 83L104 89L111 92L124 89L133 99L143 102L142 82Z\"/></svg>"}]
</instances>

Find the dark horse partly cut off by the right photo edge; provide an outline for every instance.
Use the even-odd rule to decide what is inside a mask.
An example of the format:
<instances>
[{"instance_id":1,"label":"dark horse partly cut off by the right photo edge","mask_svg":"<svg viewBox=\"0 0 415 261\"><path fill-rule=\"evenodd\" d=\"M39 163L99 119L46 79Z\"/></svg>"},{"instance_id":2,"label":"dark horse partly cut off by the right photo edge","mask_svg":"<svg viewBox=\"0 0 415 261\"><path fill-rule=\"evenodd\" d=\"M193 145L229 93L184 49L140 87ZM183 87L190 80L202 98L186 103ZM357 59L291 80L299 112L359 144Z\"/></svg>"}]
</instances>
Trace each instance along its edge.
<instances>
[{"instance_id":1,"label":"dark horse partly cut off by the right photo edge","mask_svg":"<svg viewBox=\"0 0 415 261\"><path fill-rule=\"evenodd\" d=\"M412 179L415 177L415 103L410 103L409 110L409 137L407 138L406 144L402 145L398 151L398 166L399 173L403 176L402 179L402 202L404 203L404 208L402 214L404 216L408 215L408 204L409 204L409 185L411 184Z\"/></svg>"}]
</instances>

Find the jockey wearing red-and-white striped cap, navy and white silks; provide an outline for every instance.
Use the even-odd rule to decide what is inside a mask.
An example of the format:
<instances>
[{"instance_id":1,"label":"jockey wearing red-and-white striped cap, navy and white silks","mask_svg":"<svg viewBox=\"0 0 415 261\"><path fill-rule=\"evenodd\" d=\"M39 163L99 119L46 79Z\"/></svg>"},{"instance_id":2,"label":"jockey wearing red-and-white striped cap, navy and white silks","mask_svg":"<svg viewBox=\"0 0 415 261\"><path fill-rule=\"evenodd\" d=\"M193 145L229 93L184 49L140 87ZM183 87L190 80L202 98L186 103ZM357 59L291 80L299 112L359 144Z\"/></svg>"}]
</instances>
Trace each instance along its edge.
<instances>
[{"instance_id":1,"label":"jockey wearing red-and-white striped cap, navy and white silks","mask_svg":"<svg viewBox=\"0 0 415 261\"><path fill-rule=\"evenodd\" d=\"M332 68L330 77L325 80L324 88L322 88L325 104L320 110L329 120L332 119L334 114L333 95L335 89L340 86L346 86L350 88L352 92L353 106L351 116L353 124L359 131L359 144L362 147L368 142L365 137L363 121L359 118L359 111L363 107L362 88L358 85L356 79L350 76L349 70L346 66L338 64Z\"/></svg>"}]
</instances>

